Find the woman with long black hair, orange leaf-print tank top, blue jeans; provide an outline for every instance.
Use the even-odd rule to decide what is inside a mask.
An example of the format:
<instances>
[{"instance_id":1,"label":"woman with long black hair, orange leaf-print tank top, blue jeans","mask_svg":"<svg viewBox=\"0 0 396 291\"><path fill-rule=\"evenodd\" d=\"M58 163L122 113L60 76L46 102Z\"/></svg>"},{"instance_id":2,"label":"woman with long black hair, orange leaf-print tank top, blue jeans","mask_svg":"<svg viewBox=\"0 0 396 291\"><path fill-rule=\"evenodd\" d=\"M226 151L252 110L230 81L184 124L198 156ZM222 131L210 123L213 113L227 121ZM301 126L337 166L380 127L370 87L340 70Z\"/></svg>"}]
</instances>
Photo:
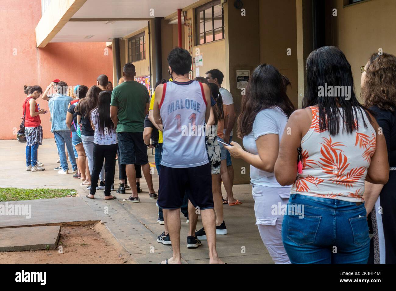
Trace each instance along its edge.
<instances>
[{"instance_id":1,"label":"woman with long black hair, orange leaf-print tank top, blue jeans","mask_svg":"<svg viewBox=\"0 0 396 291\"><path fill-rule=\"evenodd\" d=\"M364 182L385 184L389 174L378 127L356 99L344 53L312 51L303 109L291 114L275 164L276 180L292 184L282 226L292 263L367 263Z\"/></svg>"}]
</instances>

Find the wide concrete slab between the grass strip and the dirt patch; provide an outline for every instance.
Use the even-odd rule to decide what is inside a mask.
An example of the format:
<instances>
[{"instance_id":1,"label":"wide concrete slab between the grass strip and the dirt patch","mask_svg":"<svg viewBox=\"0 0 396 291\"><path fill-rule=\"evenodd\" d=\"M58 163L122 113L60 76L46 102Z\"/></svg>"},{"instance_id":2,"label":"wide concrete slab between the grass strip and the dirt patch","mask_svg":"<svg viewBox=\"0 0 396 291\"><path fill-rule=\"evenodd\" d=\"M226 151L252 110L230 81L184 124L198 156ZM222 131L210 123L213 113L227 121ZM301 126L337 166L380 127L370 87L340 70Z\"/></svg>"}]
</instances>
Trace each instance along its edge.
<instances>
[{"instance_id":1,"label":"wide concrete slab between the grass strip and the dirt patch","mask_svg":"<svg viewBox=\"0 0 396 291\"><path fill-rule=\"evenodd\" d=\"M81 197L64 197L52 199L23 200L13 202L0 202L10 207L25 205L29 215L4 215L0 219L0 228L39 226L55 224L94 224L100 221L94 211L81 199ZM15 207L15 206L14 206ZM29 218L29 216L31 216Z\"/></svg>"}]
</instances>

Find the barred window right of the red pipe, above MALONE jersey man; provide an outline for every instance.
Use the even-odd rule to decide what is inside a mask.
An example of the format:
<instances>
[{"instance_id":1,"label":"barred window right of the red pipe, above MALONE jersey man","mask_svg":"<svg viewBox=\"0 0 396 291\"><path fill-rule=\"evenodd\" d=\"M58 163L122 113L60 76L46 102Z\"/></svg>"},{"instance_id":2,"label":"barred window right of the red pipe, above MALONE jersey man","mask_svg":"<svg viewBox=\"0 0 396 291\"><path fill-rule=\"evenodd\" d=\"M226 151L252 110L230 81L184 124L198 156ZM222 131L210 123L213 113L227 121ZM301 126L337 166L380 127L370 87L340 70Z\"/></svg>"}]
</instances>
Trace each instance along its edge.
<instances>
[{"instance_id":1,"label":"barred window right of the red pipe, above MALONE jersey man","mask_svg":"<svg viewBox=\"0 0 396 291\"><path fill-rule=\"evenodd\" d=\"M195 9L196 45L224 38L224 9L220 0Z\"/></svg>"}]
</instances>

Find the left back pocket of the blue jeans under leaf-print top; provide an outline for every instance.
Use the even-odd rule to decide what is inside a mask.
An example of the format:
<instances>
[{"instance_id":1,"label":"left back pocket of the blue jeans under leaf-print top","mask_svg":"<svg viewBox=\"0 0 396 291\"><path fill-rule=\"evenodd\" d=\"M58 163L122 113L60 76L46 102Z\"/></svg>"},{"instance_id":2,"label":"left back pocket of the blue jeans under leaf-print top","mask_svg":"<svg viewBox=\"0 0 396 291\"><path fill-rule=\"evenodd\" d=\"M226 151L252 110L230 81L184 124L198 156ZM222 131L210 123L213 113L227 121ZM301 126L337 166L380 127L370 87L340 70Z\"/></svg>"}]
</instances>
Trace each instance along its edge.
<instances>
[{"instance_id":1,"label":"left back pocket of the blue jeans under leaf-print top","mask_svg":"<svg viewBox=\"0 0 396 291\"><path fill-rule=\"evenodd\" d=\"M299 215L289 215L287 238L297 245L307 245L315 242L321 216L307 216L299 218Z\"/></svg>"}]
</instances>

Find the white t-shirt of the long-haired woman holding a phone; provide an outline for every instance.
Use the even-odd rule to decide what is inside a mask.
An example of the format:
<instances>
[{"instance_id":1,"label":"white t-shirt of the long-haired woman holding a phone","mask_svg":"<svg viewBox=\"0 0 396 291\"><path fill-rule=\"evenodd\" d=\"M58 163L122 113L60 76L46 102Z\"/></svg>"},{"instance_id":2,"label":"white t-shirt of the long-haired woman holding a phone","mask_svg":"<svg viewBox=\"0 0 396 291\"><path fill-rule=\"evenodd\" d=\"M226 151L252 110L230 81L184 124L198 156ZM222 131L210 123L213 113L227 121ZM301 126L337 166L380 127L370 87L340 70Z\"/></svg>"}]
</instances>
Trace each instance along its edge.
<instances>
[{"instance_id":1,"label":"white t-shirt of the long-haired woman holding a phone","mask_svg":"<svg viewBox=\"0 0 396 291\"><path fill-rule=\"evenodd\" d=\"M266 134L279 135L279 143L282 139L282 133L287 123L287 116L278 108L268 108L257 113L253 122L252 131L243 139L244 148L251 154L259 154L257 151L256 141L259 137ZM269 173L256 167L250 166L250 182L251 184L267 186L267 187L290 187L281 186L275 179L274 173Z\"/></svg>"}]
</instances>

